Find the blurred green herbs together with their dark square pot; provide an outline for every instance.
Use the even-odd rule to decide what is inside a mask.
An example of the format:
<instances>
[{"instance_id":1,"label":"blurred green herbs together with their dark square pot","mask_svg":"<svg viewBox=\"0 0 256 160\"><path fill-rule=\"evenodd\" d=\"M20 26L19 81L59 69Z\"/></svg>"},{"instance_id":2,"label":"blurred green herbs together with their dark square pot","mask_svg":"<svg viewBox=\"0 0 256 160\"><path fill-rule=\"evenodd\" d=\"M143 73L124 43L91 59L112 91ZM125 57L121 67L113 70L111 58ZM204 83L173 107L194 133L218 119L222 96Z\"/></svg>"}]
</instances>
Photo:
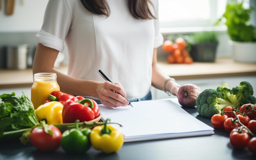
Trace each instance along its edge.
<instances>
[{"instance_id":1,"label":"blurred green herbs together with their dark square pot","mask_svg":"<svg viewBox=\"0 0 256 160\"><path fill-rule=\"evenodd\" d=\"M189 35L191 57L194 61L213 62L216 57L218 38L216 32L204 31Z\"/></svg>"}]
</instances>

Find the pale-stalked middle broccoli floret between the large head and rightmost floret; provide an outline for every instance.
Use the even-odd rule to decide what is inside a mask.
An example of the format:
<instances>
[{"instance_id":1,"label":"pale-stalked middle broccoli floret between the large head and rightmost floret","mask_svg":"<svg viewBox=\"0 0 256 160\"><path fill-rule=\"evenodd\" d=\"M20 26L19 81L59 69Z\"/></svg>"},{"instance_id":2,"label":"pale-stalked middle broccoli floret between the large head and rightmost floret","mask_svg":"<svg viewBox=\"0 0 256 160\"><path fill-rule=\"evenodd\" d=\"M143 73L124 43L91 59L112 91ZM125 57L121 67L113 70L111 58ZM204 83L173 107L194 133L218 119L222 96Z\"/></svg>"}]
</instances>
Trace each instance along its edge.
<instances>
[{"instance_id":1,"label":"pale-stalked middle broccoli floret between the large head and rightmost floret","mask_svg":"<svg viewBox=\"0 0 256 160\"><path fill-rule=\"evenodd\" d=\"M221 87L217 88L217 91L222 94L222 99L231 102L236 107L240 105L236 95L233 94L227 83L222 83Z\"/></svg>"}]
</instances>

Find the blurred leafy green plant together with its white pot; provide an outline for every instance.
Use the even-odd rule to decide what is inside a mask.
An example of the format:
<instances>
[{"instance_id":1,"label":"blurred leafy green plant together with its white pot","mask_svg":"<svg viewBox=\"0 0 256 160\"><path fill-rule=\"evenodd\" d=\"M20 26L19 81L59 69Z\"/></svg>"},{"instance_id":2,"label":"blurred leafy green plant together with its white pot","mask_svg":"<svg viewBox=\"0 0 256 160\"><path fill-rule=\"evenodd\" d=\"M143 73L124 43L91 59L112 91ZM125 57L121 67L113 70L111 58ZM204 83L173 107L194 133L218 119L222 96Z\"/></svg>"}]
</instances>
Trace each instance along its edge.
<instances>
[{"instance_id":1,"label":"blurred leafy green plant together with its white pot","mask_svg":"<svg viewBox=\"0 0 256 160\"><path fill-rule=\"evenodd\" d=\"M225 13L216 22L220 24L225 20L235 61L256 62L256 31L249 24L252 11L252 7L243 6L243 0L229 0Z\"/></svg>"}]
</instances>

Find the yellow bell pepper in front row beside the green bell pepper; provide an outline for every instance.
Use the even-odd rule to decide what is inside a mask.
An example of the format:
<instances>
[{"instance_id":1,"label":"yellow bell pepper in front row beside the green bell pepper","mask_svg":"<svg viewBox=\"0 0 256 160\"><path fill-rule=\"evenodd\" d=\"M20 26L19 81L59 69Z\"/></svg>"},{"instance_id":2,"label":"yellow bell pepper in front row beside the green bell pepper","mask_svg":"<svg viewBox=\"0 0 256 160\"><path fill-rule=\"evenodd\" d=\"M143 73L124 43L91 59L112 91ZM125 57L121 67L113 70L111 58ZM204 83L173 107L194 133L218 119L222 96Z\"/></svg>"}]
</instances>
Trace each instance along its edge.
<instances>
[{"instance_id":1,"label":"yellow bell pepper in front row beside the green bell pepper","mask_svg":"<svg viewBox=\"0 0 256 160\"><path fill-rule=\"evenodd\" d=\"M90 140L94 149L112 153L121 149L124 144L124 135L120 130L107 125L108 120L106 120L105 125L96 126L92 129Z\"/></svg>"}]
</instances>

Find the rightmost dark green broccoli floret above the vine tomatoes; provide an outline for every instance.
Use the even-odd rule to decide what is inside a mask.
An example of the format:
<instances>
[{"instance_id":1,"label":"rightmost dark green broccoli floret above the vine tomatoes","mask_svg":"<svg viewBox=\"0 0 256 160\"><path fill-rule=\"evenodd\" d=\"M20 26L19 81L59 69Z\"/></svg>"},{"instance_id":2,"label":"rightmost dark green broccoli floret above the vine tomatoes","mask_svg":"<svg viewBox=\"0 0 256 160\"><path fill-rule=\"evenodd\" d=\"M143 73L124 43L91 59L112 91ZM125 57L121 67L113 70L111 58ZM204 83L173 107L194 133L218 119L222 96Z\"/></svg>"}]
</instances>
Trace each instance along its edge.
<instances>
[{"instance_id":1,"label":"rightmost dark green broccoli floret above the vine tomatoes","mask_svg":"<svg viewBox=\"0 0 256 160\"><path fill-rule=\"evenodd\" d=\"M236 95L236 98L240 102L240 105L247 103L256 103L256 98L253 96L254 91L252 85L249 82L241 82L239 86L233 87L231 92Z\"/></svg>"}]
</instances>

